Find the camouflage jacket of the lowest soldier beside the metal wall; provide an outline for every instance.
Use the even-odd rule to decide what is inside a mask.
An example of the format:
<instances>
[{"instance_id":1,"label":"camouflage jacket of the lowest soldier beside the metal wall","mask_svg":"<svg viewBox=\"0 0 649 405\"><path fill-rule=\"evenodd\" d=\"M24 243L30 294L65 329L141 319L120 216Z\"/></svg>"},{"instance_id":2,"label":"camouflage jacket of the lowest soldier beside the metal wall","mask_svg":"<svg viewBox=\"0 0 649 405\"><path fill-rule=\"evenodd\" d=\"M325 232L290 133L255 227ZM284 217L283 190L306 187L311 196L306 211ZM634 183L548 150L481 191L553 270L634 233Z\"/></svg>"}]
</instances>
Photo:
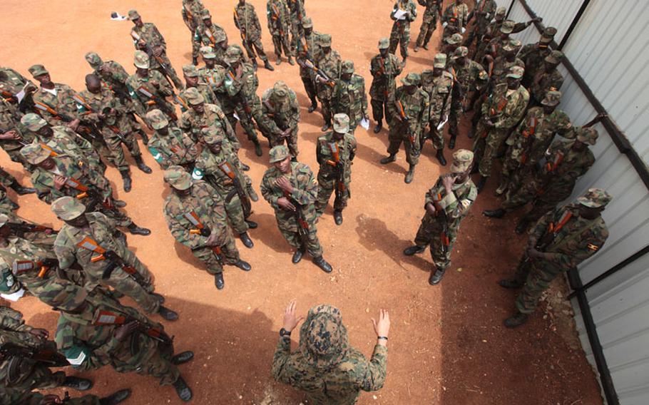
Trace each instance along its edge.
<instances>
[{"instance_id":1,"label":"camouflage jacket of the lowest soldier beside the metal wall","mask_svg":"<svg viewBox=\"0 0 649 405\"><path fill-rule=\"evenodd\" d=\"M564 225L557 232L556 227L562 222ZM554 231L549 230L551 224ZM552 232L553 237L548 236L551 242L544 244L546 232ZM571 270L601 249L608 238L608 227L601 216L587 220L579 216L575 205L568 204L543 215L531 230L530 237L535 238L537 244L545 245L540 250L551 254L548 260L551 265Z\"/></svg>"}]
</instances>

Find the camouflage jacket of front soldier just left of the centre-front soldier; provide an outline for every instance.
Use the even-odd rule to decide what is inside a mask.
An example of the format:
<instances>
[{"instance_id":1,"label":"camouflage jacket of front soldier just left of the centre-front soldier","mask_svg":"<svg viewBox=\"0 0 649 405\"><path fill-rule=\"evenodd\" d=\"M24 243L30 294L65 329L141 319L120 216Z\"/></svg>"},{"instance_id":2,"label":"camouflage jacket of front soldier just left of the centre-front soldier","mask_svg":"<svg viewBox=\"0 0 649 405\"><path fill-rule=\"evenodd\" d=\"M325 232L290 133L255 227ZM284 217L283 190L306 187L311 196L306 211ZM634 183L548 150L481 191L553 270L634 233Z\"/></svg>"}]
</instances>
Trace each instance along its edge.
<instances>
[{"instance_id":1,"label":"camouflage jacket of front soldier just left of the centre-front soldier","mask_svg":"<svg viewBox=\"0 0 649 405\"><path fill-rule=\"evenodd\" d=\"M203 180L193 180L190 195L170 193L165 200L163 212L171 235L186 247L192 250L200 249L207 246L205 244L208 242L208 237L190 233L191 230L197 229L185 217L191 212L198 215L198 220L213 235L220 235L218 241L220 246L225 245L225 239L229 234L223 199L211 185Z\"/></svg>"}]
</instances>

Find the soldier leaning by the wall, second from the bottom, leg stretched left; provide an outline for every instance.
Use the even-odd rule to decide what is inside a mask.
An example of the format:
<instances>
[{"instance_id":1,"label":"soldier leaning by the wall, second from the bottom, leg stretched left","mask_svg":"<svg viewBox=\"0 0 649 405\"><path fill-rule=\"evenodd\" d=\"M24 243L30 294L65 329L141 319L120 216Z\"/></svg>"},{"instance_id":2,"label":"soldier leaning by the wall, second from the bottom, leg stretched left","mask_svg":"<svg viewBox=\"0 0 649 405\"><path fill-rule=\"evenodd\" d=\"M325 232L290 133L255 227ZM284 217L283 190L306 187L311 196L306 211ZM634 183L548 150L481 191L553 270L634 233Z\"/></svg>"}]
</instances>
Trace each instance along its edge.
<instances>
[{"instance_id":1,"label":"soldier leaning by the wall, second from the bottom, leg stretched left","mask_svg":"<svg viewBox=\"0 0 649 405\"><path fill-rule=\"evenodd\" d=\"M581 127L574 131L576 136L573 140L555 140L546 152L546 163L542 168L529 173L521 181L521 188L508 195L500 208L486 210L484 215L500 218L507 212L533 202L531 210L516 225L516 233L521 234L530 222L538 220L559 202L570 197L577 179L586 174L595 163L595 156L588 145L595 145L598 138L597 130L593 128Z\"/></svg>"}]
</instances>

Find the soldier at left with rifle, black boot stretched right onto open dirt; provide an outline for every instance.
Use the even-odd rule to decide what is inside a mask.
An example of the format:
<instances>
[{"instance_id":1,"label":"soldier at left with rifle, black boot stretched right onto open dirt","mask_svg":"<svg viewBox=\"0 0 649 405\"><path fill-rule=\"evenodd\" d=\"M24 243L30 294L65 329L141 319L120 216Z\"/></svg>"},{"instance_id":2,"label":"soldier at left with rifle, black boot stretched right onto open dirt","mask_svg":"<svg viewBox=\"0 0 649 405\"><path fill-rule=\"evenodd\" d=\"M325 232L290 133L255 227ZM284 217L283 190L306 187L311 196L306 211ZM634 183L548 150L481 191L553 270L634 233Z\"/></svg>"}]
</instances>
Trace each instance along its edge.
<instances>
[{"instance_id":1,"label":"soldier at left with rifle, black boot stretched right onto open dirt","mask_svg":"<svg viewBox=\"0 0 649 405\"><path fill-rule=\"evenodd\" d=\"M83 199L89 212L102 212L118 226L127 227L133 235L150 235L150 230L138 227L128 215L118 210L126 202L113 198L111 183L100 173L77 165L67 156L51 156L51 152L38 143L25 146L21 153L36 166L31 174L31 183L39 200L51 204L64 195Z\"/></svg>"}]
</instances>

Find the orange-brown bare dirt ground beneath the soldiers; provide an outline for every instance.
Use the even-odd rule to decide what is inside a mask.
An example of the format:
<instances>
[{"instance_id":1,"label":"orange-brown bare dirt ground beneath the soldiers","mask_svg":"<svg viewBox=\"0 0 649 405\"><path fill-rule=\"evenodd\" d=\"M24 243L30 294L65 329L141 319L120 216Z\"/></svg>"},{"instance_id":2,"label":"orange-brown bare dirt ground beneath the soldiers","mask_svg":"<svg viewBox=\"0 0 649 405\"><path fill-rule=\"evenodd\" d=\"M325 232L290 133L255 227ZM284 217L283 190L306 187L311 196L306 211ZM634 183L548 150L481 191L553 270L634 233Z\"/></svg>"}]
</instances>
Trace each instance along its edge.
<instances>
[{"instance_id":1,"label":"orange-brown bare dirt ground beneath the soldiers","mask_svg":"<svg viewBox=\"0 0 649 405\"><path fill-rule=\"evenodd\" d=\"M230 42L238 42L232 22L235 0L204 2L213 19L228 31ZM251 3L265 26L265 1ZM369 60L377 53L379 37L389 34L392 4L388 0L307 1L307 14L317 31L332 34L334 48L342 58L352 58L368 89ZM98 51L104 60L114 59L133 71L131 22L108 18L111 11L124 15L131 8L158 26L177 71L190 63L190 34L180 18L180 0L5 0L0 63L25 75L31 64L44 63L53 81L77 90L83 89L83 76L89 71L83 59L87 51ZM413 36L420 24L421 17L413 24ZM431 44L439 42L440 34L438 29ZM267 53L272 53L266 29L262 39ZM433 55L434 47L412 53L406 71L430 68ZM275 62L274 56L271 61ZM302 106L300 160L317 170L315 140L321 116L307 113L308 101L297 71L297 66L287 63L274 73L260 69L260 94L280 78L297 91ZM459 147L470 148L464 136L467 129L462 130ZM511 331L502 326L515 295L499 288L496 281L516 265L524 238L513 232L516 218L498 221L481 216L484 208L496 205L495 181L464 220L453 267L438 287L430 287L426 282L429 253L405 257L402 250L417 232L424 193L440 173L434 150L426 145L414 182L406 185L403 152L397 163L378 163L387 147L385 130L377 136L359 128L357 138L353 198L344 211L344 224L334 225L330 209L319 223L325 257L334 266L332 275L325 275L309 260L291 264L290 248L277 230L272 210L260 201L254 205L253 216L260 228L251 232L255 247L247 250L240 245L242 257L252 263L253 270L244 273L228 268L221 292L167 230L162 205L168 190L153 158L144 153L145 161L155 168L153 175L133 168L133 191L128 194L121 190L117 170L109 168L108 178L118 198L128 202L127 212L153 230L150 237L129 235L129 245L155 274L157 289L168 297L168 306L180 313L178 322L166 326L175 335L178 350L196 353L192 363L181 366L194 391L193 403L303 401L302 395L270 378L282 310L296 298L305 313L322 302L340 307L351 343L368 356L375 338L369 318L381 307L389 309L392 334L387 381L381 391L363 394L360 404L601 404L595 376L565 313L544 317L538 311L525 327ZM240 156L252 166L250 175L258 190L267 152L257 158L250 146L244 140ZM6 155L0 160L22 183L29 184ZM13 192L10 195L16 198ZM20 215L60 227L36 196L21 197L19 202ZM56 312L34 297L14 307L24 312L30 324L53 331ZM568 327L557 329L556 317L563 317ZM180 402L172 388L159 388L151 377L121 375L110 367L85 376L96 381L93 392L98 394L132 387L129 404Z\"/></svg>"}]
</instances>

